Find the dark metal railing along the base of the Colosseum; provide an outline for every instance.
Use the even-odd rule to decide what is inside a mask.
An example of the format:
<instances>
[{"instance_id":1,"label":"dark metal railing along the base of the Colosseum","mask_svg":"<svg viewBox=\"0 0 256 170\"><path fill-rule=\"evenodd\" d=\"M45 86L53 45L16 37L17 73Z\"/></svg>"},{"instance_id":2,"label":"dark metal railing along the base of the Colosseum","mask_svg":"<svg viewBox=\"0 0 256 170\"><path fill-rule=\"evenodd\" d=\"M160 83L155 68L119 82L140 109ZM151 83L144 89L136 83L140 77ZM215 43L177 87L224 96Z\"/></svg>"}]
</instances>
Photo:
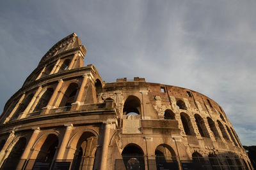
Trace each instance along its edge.
<instances>
[{"instance_id":1,"label":"dark metal railing along the base of the Colosseum","mask_svg":"<svg viewBox=\"0 0 256 170\"><path fill-rule=\"evenodd\" d=\"M1 166L1 170L93 170L96 168L93 157L81 157L77 159L63 159L47 162L36 159L6 159ZM123 156L123 159L115 159L113 162L115 170L247 170L246 166L240 158L208 158L208 157L162 157L157 156L155 159L141 155Z\"/></svg>"}]
</instances>

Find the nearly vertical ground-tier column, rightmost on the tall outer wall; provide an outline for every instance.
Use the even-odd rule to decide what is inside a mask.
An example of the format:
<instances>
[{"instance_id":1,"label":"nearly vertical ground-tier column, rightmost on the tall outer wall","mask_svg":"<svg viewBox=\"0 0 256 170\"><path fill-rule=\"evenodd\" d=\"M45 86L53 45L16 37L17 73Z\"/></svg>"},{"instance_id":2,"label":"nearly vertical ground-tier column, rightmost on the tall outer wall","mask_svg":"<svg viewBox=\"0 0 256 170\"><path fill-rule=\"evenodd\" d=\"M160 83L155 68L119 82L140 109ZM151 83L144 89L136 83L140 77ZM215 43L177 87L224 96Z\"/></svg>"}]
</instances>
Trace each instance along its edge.
<instances>
[{"instance_id":1,"label":"nearly vertical ground-tier column, rightmost on the tall outer wall","mask_svg":"<svg viewBox=\"0 0 256 170\"><path fill-rule=\"evenodd\" d=\"M100 170L108 169L107 168L107 161L108 161L108 144L109 144L110 127L111 127L111 124L106 123L105 133L104 133L104 140L103 140L103 145L102 145Z\"/></svg>"}]
</instances>

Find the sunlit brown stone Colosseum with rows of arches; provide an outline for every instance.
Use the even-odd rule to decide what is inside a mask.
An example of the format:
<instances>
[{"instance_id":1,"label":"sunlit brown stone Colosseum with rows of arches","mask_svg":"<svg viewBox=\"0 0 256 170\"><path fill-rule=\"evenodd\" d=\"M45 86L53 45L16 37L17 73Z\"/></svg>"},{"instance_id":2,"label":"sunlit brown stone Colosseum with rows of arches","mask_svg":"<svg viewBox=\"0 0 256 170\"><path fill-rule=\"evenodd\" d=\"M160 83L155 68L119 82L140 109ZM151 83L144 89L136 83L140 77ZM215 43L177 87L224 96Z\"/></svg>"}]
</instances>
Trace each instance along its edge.
<instances>
[{"instance_id":1,"label":"sunlit brown stone Colosseum with rows of arches","mask_svg":"<svg viewBox=\"0 0 256 170\"><path fill-rule=\"evenodd\" d=\"M1 169L253 169L223 108L193 90L106 83L73 33L4 106Z\"/></svg>"}]
</instances>

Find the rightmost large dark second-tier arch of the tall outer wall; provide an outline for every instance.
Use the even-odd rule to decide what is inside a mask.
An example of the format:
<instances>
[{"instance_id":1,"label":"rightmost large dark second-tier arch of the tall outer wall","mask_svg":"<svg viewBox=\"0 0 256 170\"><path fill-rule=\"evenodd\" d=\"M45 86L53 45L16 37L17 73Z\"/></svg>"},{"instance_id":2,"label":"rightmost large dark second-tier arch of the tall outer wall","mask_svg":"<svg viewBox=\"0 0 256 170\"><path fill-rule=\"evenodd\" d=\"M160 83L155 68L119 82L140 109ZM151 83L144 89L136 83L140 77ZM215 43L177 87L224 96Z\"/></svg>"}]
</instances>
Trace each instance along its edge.
<instances>
[{"instance_id":1,"label":"rightmost large dark second-tier arch of the tall outer wall","mask_svg":"<svg viewBox=\"0 0 256 170\"><path fill-rule=\"evenodd\" d=\"M65 91L63 98L60 103L60 107L62 106L71 106L72 103L76 101L78 85L77 83L70 83L68 89Z\"/></svg>"}]
</instances>

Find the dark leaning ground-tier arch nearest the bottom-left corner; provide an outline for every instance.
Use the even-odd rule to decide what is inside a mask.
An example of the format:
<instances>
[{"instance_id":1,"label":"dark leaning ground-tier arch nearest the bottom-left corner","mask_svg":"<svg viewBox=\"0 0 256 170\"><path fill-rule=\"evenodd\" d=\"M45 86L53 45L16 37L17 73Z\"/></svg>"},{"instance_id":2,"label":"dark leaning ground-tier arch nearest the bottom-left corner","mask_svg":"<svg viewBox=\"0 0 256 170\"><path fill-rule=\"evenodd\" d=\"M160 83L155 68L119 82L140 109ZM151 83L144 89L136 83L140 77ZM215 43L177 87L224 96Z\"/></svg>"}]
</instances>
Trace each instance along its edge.
<instances>
[{"instance_id":1,"label":"dark leaning ground-tier arch nearest the bottom-left corner","mask_svg":"<svg viewBox=\"0 0 256 170\"><path fill-rule=\"evenodd\" d=\"M20 138L17 143L12 148L10 155L4 161L4 164L1 169L3 170L10 170L16 169L17 165L19 164L20 157L25 149L26 146L26 138Z\"/></svg>"}]
</instances>

